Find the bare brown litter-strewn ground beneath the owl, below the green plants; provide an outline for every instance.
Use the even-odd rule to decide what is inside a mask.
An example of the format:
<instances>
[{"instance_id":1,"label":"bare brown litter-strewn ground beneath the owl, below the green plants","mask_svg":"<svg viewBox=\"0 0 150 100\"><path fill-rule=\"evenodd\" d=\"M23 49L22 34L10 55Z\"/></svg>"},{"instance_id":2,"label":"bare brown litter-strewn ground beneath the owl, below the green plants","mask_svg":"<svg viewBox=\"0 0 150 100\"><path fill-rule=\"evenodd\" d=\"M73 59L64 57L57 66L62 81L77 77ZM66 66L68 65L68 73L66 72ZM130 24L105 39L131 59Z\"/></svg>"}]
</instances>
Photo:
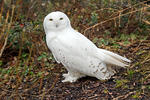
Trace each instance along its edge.
<instances>
[{"instance_id":1,"label":"bare brown litter-strewn ground beneath the owl, below the green plants","mask_svg":"<svg viewBox=\"0 0 150 100\"><path fill-rule=\"evenodd\" d=\"M150 96L150 41L135 41L119 50L132 60L127 69L121 68L109 80L85 77L74 83L62 83L66 70L54 62L44 73L45 78L15 79L2 85L1 100L148 100ZM7 76L5 76L7 77ZM20 85L19 85L20 84ZM17 87L18 86L18 87Z\"/></svg>"}]
</instances>

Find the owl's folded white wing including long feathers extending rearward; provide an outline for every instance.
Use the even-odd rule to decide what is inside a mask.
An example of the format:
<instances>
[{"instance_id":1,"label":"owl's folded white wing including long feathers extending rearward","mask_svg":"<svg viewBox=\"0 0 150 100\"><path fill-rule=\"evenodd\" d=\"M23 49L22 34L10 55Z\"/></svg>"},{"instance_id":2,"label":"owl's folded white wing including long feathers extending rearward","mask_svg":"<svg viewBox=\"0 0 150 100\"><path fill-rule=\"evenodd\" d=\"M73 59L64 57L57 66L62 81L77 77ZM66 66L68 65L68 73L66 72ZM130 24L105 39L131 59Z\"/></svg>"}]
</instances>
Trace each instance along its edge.
<instances>
[{"instance_id":1,"label":"owl's folded white wing including long feathers extending rearward","mask_svg":"<svg viewBox=\"0 0 150 100\"><path fill-rule=\"evenodd\" d=\"M97 48L93 42L75 30L66 35L63 41L65 41L64 45L69 46L68 48L71 51L70 55L79 56L83 59L98 59L99 62L121 67L128 66L128 63L131 62L118 54Z\"/></svg>"}]
</instances>

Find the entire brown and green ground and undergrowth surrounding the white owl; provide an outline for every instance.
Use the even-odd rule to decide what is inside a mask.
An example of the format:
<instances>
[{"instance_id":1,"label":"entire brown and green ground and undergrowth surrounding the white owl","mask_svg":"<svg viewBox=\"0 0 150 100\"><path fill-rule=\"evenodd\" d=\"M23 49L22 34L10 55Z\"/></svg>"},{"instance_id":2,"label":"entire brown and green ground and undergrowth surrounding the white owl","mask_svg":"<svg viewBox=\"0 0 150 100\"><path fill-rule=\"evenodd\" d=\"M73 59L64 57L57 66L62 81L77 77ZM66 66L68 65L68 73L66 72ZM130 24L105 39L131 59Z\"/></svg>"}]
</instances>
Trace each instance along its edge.
<instances>
[{"instance_id":1,"label":"entire brown and green ground and undergrowth surrounding the white owl","mask_svg":"<svg viewBox=\"0 0 150 100\"><path fill-rule=\"evenodd\" d=\"M149 2L141 0L1 0L0 100L148 100ZM99 48L132 62L109 80L62 83L67 70L45 43L43 19L66 13L72 27Z\"/></svg>"}]
</instances>

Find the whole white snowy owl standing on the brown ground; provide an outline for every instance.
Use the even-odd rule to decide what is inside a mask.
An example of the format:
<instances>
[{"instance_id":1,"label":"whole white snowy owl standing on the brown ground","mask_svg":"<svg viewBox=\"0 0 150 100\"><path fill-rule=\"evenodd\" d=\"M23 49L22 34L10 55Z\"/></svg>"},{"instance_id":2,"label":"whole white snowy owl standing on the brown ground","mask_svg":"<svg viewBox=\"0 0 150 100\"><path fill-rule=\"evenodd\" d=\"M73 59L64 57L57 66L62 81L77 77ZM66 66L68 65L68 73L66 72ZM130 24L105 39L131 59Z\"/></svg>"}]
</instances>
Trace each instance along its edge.
<instances>
[{"instance_id":1,"label":"whole white snowy owl standing on the brown ground","mask_svg":"<svg viewBox=\"0 0 150 100\"><path fill-rule=\"evenodd\" d=\"M75 82L85 76L99 80L109 79L115 70L111 65L125 67L130 60L96 47L88 38L71 27L66 14L56 11L44 18L46 43L57 63L68 73L62 82Z\"/></svg>"}]
</instances>

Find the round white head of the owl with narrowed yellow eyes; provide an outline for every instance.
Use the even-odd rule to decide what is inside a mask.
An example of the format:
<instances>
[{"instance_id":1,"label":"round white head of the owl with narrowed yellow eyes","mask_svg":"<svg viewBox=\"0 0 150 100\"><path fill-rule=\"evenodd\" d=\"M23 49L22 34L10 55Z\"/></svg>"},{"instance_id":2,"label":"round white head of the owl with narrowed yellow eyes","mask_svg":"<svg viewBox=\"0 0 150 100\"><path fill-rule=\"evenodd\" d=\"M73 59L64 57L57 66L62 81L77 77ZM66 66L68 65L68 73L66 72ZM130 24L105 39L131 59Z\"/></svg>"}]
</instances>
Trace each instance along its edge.
<instances>
[{"instance_id":1,"label":"round white head of the owl with narrowed yellow eyes","mask_svg":"<svg viewBox=\"0 0 150 100\"><path fill-rule=\"evenodd\" d=\"M70 20L66 14L56 11L51 12L44 18L43 22L44 30L48 31L61 31L70 27Z\"/></svg>"}]
</instances>

